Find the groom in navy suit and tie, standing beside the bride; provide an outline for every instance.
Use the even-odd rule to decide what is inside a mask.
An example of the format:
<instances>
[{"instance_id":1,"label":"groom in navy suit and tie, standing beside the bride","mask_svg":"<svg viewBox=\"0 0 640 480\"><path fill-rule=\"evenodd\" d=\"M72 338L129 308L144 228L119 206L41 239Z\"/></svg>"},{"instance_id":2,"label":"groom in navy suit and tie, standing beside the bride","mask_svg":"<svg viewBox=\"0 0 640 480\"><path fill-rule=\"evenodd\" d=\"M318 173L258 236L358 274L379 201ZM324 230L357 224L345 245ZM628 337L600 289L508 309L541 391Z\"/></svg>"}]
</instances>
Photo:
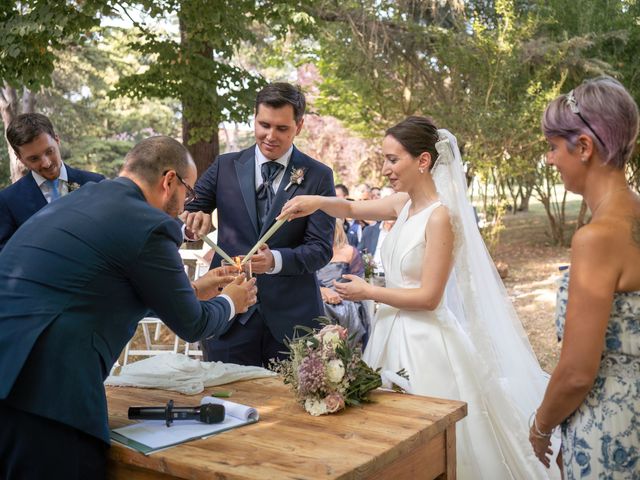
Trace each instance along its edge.
<instances>
[{"instance_id":1,"label":"groom in navy suit and tie, standing beside the bride","mask_svg":"<svg viewBox=\"0 0 640 480\"><path fill-rule=\"evenodd\" d=\"M300 152L304 94L288 83L273 83L256 98L256 144L220 155L195 186L197 199L186 206L187 229L206 234L218 209L218 245L244 255L274 223L295 195L335 196L333 173ZM205 359L266 366L283 358L285 338L294 326L315 327L324 312L315 272L333 255L334 220L322 212L285 223L251 261L258 303L240 315L220 337L203 342ZM212 267L220 265L216 254Z\"/></svg>"}]
</instances>

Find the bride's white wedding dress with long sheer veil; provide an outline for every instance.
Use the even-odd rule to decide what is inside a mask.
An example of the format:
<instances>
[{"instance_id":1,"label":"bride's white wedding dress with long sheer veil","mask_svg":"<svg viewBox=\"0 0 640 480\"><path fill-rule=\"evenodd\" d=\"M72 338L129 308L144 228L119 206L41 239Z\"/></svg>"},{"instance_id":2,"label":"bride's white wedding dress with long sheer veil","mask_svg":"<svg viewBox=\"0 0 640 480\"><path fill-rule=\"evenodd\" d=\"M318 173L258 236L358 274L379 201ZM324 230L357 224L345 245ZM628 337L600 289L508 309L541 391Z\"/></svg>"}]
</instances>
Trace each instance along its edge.
<instances>
[{"instance_id":1,"label":"bride's white wedding dress with long sheer veil","mask_svg":"<svg viewBox=\"0 0 640 480\"><path fill-rule=\"evenodd\" d=\"M459 162L459 158L450 154L443 161ZM451 173L451 165L436 165L436 169L449 169ZM449 188L450 175L441 180ZM459 186L466 190L464 180ZM510 310L506 292L500 290L504 289L502 284L487 287L500 282L497 273L483 272L485 278L474 278L474 266L469 266L467 258L470 252L465 250L469 238L460 228L460 205L456 205L455 196L440 189L439 194L446 206L438 201L411 217L411 201L407 202L382 245L382 261L388 288L419 287L427 223L437 208L449 208L457 246L447 292L433 311L408 311L381 304L364 360L383 372L405 369L409 393L467 402L468 415L456 430L458 478L559 478L555 466L547 470L536 459L528 441L528 418L542 399L546 377ZM478 255L474 253L473 262ZM483 268L493 268L493 264L483 264ZM491 311L484 311L488 309ZM501 341L510 345L500 344L487 332L496 327Z\"/></svg>"}]
</instances>

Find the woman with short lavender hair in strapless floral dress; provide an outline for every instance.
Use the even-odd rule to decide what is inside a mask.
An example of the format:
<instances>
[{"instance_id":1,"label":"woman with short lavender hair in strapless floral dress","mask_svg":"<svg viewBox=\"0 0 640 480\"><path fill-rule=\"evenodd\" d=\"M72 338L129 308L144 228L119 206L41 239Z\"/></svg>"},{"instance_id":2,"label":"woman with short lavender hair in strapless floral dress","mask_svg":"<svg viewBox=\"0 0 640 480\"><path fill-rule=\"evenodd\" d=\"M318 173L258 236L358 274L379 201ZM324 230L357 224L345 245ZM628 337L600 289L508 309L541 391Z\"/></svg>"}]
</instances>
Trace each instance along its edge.
<instances>
[{"instance_id":1,"label":"woman with short lavender hair in strapless floral dress","mask_svg":"<svg viewBox=\"0 0 640 480\"><path fill-rule=\"evenodd\" d=\"M556 98L542 118L554 165L591 222L573 236L558 292L562 352L529 439L549 465L562 430L566 479L640 478L640 198L625 177L638 107L609 77Z\"/></svg>"}]
</instances>

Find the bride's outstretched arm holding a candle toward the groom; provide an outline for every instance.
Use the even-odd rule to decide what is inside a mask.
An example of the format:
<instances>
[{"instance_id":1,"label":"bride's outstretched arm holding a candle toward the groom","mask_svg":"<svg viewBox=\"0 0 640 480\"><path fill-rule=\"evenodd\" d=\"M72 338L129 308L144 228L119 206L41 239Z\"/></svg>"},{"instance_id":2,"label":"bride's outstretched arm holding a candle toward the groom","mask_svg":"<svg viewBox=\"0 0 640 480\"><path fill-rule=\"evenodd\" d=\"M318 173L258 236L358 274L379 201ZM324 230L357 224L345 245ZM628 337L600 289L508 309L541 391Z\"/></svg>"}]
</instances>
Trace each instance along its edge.
<instances>
[{"instance_id":1,"label":"bride's outstretched arm holding a candle toward the groom","mask_svg":"<svg viewBox=\"0 0 640 480\"><path fill-rule=\"evenodd\" d=\"M289 220L306 217L317 210L335 218L355 218L356 220L395 220L409 200L406 193L395 193L379 200L352 202L342 198L320 195L298 195L282 208L278 219L289 216Z\"/></svg>"}]
</instances>

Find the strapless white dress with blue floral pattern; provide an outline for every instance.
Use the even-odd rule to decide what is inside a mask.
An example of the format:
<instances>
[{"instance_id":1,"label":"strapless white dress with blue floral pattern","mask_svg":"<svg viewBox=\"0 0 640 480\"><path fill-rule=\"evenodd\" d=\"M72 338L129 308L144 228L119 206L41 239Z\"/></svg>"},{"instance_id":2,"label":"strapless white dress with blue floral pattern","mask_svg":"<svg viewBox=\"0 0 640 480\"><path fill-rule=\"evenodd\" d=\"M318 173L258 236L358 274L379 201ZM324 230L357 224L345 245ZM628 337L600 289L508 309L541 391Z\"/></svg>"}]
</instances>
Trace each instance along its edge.
<instances>
[{"instance_id":1,"label":"strapless white dress with blue floral pattern","mask_svg":"<svg viewBox=\"0 0 640 480\"><path fill-rule=\"evenodd\" d=\"M558 290L564 334L569 275ZM600 370L591 391L562 424L564 477L640 480L640 291L616 293Z\"/></svg>"}]
</instances>

